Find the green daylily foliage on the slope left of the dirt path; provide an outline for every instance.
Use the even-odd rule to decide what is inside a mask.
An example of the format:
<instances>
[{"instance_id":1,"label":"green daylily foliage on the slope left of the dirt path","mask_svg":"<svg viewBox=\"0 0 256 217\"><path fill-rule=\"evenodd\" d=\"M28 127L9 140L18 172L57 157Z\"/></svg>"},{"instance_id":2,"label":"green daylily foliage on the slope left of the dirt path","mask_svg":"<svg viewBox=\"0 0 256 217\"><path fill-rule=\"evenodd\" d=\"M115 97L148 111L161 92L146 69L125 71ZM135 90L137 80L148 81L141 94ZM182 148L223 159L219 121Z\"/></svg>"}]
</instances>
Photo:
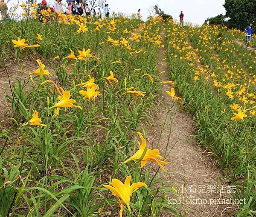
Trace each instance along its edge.
<instances>
[{"instance_id":1,"label":"green daylily foliage on the slope left of the dirt path","mask_svg":"<svg viewBox=\"0 0 256 217\"><path fill-rule=\"evenodd\" d=\"M115 215L117 199L103 184L113 178L123 181L128 175L132 183L143 181L149 186L131 197L133 216L160 216L164 209L179 216L182 208L167 200L169 195L179 195L162 172L152 177L149 164L146 169L140 168L139 162L122 164L137 151L136 131L146 132L149 124L142 123L153 120L150 111L160 95L156 70L160 46L154 40L160 40L163 20L158 17L140 23L127 18L103 21L75 17L88 28L78 34L78 23L57 23L52 14L49 16L52 22L44 24L31 17L0 23L4 57L0 66L16 65L19 78L6 96L14 124L1 124L0 139L6 142L0 149L0 217L11 212L14 217ZM131 32L141 24L142 31L131 39ZM37 34L43 40L38 40ZM40 47L15 48L12 40L17 37ZM118 44L114 46L109 37ZM130 50L119 43L123 39ZM77 57L83 48L91 49L93 57L86 61L63 59L70 49ZM36 59L45 64L51 77L31 75L38 69ZM120 63L114 63L117 60ZM110 71L118 80L112 81L113 86L106 80ZM143 76L145 73L154 77L154 83ZM88 81L88 75L99 86L101 95L95 101L84 100L79 94L87 90L78 85ZM61 94L51 82L42 84L48 79L70 91L70 99L82 110L61 107L55 117L56 109L49 108ZM134 95L125 94L131 87L145 92L145 97L137 96L135 102ZM35 110L46 126L30 122ZM124 210L129 216L126 207Z\"/></svg>"}]
</instances>

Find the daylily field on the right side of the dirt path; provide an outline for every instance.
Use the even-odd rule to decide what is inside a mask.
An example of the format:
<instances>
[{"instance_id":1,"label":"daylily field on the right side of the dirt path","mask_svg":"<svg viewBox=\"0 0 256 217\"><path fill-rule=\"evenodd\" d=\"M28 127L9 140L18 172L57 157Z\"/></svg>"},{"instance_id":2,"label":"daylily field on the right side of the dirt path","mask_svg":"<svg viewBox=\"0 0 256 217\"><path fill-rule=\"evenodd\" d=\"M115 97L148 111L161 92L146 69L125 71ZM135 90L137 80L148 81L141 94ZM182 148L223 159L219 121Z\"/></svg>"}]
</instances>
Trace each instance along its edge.
<instances>
[{"instance_id":1,"label":"daylily field on the right side of the dirt path","mask_svg":"<svg viewBox=\"0 0 256 217\"><path fill-rule=\"evenodd\" d=\"M170 79L194 117L198 141L236 185L235 197L250 202L239 216L255 214L256 53L218 26L171 25L166 32Z\"/></svg>"}]
</instances>

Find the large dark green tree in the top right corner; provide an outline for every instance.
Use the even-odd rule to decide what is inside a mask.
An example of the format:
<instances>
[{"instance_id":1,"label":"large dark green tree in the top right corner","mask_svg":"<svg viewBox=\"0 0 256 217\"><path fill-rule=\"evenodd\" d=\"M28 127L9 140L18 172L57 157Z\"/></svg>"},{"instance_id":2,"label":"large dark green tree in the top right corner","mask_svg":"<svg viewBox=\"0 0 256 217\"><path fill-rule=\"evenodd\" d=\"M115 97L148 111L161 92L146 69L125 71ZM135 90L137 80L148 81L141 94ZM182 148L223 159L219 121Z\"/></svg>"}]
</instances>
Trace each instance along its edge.
<instances>
[{"instance_id":1,"label":"large dark green tree in the top right corner","mask_svg":"<svg viewBox=\"0 0 256 217\"><path fill-rule=\"evenodd\" d=\"M256 0L225 0L227 26L244 29L249 22L256 24Z\"/></svg>"}]
</instances>

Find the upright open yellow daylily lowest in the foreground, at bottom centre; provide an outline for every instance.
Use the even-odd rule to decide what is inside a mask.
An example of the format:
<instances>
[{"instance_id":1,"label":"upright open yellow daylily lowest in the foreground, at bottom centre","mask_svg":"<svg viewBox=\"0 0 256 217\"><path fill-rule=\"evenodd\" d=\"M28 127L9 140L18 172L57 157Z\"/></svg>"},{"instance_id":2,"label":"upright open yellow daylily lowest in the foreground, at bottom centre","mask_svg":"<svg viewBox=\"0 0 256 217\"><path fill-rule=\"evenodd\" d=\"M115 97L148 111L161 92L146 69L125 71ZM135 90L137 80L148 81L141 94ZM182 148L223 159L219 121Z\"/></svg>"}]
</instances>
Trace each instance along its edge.
<instances>
[{"instance_id":1,"label":"upright open yellow daylily lowest in the foreground, at bottom centre","mask_svg":"<svg viewBox=\"0 0 256 217\"><path fill-rule=\"evenodd\" d=\"M128 211L131 211L130 207L130 198L131 194L133 194L135 191L138 190L138 188L147 186L145 183L142 182L137 182L133 183L130 186L131 183L131 176L127 176L125 179L125 184L123 184L121 181L118 179L113 179L110 183L110 185L103 185L105 188L108 188L111 190L116 197L119 200L119 205L120 205L120 211L119 211L119 216L122 217L122 212L123 212L123 203L127 206Z\"/></svg>"}]
</instances>

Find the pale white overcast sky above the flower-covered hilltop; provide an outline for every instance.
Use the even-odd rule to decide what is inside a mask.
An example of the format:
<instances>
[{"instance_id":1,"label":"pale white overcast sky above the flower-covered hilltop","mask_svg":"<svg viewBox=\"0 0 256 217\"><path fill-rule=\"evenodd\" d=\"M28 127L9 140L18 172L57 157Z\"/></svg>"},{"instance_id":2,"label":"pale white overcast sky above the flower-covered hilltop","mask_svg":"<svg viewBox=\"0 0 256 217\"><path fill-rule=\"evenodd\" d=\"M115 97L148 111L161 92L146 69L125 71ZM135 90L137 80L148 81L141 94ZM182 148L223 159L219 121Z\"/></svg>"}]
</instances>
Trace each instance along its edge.
<instances>
[{"instance_id":1,"label":"pale white overcast sky above the flower-covered hilltop","mask_svg":"<svg viewBox=\"0 0 256 217\"><path fill-rule=\"evenodd\" d=\"M9 1L7 3L9 7L18 2L18 0L5 1ZM37 3L40 2L41 0L37 1ZM198 25L203 24L208 17L215 17L218 14L225 13L225 9L222 6L224 0L107 0L106 3L109 4L110 14L115 11L116 13L123 12L131 15L141 9L140 14L143 20L147 19L151 6L158 4L160 9L166 14L172 15L173 18L179 19L180 11L183 11L185 15L184 22L192 22ZM52 5L53 0L47 0L47 6Z\"/></svg>"}]
</instances>

